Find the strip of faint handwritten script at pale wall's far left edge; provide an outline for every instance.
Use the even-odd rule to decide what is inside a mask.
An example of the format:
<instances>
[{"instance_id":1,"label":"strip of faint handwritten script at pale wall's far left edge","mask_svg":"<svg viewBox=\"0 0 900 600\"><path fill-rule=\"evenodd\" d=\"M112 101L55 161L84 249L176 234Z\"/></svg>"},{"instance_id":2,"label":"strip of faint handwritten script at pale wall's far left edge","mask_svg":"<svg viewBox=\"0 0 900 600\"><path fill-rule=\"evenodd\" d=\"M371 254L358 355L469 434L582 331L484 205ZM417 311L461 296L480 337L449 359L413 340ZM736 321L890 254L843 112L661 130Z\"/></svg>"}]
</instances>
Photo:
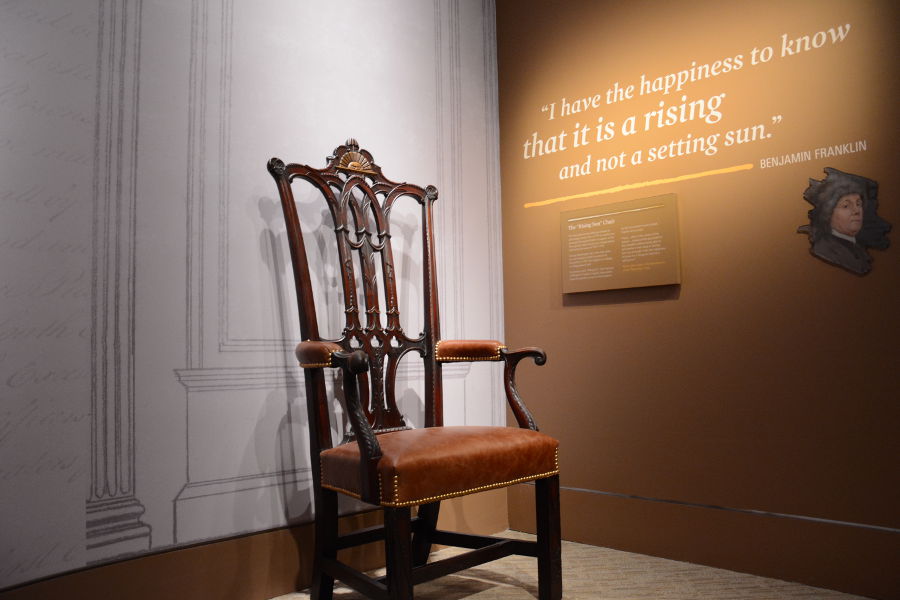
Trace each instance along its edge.
<instances>
[{"instance_id":1,"label":"strip of faint handwritten script at pale wall's far left edge","mask_svg":"<svg viewBox=\"0 0 900 600\"><path fill-rule=\"evenodd\" d=\"M0 588L83 565L96 22L0 3Z\"/></svg>"}]
</instances>

